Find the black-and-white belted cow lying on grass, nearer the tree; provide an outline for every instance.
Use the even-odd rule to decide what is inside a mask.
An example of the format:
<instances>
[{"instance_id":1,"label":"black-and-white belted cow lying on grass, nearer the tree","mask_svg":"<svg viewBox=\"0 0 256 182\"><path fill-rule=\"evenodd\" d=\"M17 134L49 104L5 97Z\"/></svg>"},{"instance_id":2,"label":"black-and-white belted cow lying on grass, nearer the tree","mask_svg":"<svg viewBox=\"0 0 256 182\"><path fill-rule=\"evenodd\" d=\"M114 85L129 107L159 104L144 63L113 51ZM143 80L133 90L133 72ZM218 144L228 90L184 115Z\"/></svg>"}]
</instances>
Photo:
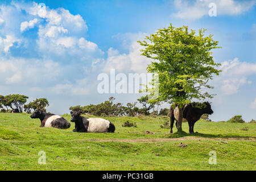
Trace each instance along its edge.
<instances>
[{"instance_id":1,"label":"black-and-white belted cow lying on grass, nearer the tree","mask_svg":"<svg viewBox=\"0 0 256 182\"><path fill-rule=\"evenodd\" d=\"M80 112L71 111L71 122L75 122L74 132L88 132L88 133L114 133L115 126L113 123L102 118L85 118L81 116Z\"/></svg>"}]
</instances>

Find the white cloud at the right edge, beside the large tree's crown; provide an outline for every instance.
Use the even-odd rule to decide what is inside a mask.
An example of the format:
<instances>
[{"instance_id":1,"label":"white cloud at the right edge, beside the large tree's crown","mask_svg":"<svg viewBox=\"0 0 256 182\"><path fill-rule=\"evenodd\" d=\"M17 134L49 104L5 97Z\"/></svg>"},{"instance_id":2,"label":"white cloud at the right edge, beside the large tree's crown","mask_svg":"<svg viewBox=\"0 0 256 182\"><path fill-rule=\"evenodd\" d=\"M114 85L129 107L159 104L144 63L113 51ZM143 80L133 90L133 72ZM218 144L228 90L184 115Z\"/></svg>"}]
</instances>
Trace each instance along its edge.
<instances>
[{"instance_id":1,"label":"white cloud at the right edge, beside the large tree's crown","mask_svg":"<svg viewBox=\"0 0 256 182\"><path fill-rule=\"evenodd\" d=\"M237 93L241 86L251 84L247 76L256 75L256 63L241 62L238 58L224 61L220 69L220 76L214 79L214 82L221 84L221 90L224 94Z\"/></svg>"}]
</instances>

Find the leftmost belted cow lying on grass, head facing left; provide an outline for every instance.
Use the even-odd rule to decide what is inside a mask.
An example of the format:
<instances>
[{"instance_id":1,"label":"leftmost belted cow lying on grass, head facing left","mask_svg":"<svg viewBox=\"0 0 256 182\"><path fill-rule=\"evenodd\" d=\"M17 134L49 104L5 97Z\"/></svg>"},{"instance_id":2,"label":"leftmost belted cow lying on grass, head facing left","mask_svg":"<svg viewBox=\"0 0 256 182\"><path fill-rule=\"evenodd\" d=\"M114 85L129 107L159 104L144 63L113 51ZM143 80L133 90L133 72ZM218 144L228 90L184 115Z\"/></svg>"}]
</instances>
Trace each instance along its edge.
<instances>
[{"instance_id":1,"label":"leftmost belted cow lying on grass, head facing left","mask_svg":"<svg viewBox=\"0 0 256 182\"><path fill-rule=\"evenodd\" d=\"M57 129L68 129L70 123L60 115L47 114L38 109L30 115L32 119L39 118L41 120L40 127L56 127Z\"/></svg>"}]
</instances>

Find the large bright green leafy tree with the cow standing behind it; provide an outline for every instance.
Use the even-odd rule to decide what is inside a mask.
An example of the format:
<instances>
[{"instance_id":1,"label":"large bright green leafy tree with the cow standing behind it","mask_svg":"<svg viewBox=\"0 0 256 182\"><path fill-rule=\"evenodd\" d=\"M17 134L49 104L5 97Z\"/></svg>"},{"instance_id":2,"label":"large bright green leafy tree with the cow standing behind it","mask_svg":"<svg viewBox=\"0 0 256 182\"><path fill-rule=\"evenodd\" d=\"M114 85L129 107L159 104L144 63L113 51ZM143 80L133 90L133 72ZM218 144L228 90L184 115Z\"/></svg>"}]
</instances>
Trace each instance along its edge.
<instances>
[{"instance_id":1,"label":"large bright green leafy tree with the cow standing behind it","mask_svg":"<svg viewBox=\"0 0 256 182\"><path fill-rule=\"evenodd\" d=\"M188 30L187 26L159 29L155 34L146 36L144 41L138 41L142 55L152 59L147 71L157 73L159 77L159 101L174 103L179 108L177 122L178 132L182 131L183 110L185 104L193 99L204 100L212 98L213 94L205 91L212 88L208 81L220 70L213 60L211 50L218 42L212 36L205 36L204 30ZM203 90L204 88L204 90Z\"/></svg>"}]
</instances>

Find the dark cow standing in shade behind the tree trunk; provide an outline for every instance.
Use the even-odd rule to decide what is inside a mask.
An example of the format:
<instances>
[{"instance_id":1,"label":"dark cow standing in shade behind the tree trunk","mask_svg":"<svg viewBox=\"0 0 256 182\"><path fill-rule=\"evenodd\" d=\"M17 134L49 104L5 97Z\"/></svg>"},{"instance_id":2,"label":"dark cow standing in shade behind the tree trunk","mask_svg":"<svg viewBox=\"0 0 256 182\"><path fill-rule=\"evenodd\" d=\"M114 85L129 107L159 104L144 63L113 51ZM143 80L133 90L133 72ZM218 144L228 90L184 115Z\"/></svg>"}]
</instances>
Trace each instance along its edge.
<instances>
[{"instance_id":1,"label":"dark cow standing in shade behind the tree trunk","mask_svg":"<svg viewBox=\"0 0 256 182\"><path fill-rule=\"evenodd\" d=\"M183 111L183 122L188 121L189 126L189 133L194 133L194 125L199 119L201 118L201 115L203 114L213 114L213 110L210 107L209 102L204 102L205 107L202 109L197 108L194 106L195 102L192 104L188 104L185 106L185 109ZM171 122L171 131L172 133L172 127L174 126L174 120L178 120L179 118L179 108L175 107L175 109L172 109L172 106L170 108L170 122ZM177 122L176 122L177 127Z\"/></svg>"}]
</instances>

